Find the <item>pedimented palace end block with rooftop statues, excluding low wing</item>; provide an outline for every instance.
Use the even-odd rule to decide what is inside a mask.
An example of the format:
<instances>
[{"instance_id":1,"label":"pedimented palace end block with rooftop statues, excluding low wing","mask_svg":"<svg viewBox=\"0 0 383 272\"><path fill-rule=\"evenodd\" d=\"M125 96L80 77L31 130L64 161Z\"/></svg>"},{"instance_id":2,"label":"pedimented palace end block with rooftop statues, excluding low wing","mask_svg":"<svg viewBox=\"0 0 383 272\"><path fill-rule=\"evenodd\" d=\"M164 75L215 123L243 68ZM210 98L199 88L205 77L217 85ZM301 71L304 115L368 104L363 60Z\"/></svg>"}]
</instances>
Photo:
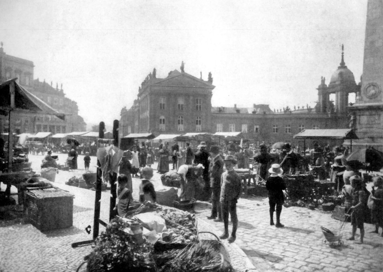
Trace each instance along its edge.
<instances>
[{"instance_id":1,"label":"pedimented palace end block with rooftop statues, excluding low wing","mask_svg":"<svg viewBox=\"0 0 383 272\"><path fill-rule=\"evenodd\" d=\"M157 78L154 69L139 87L133 106L121 110L120 135L210 131L212 83L211 74L205 81L185 73L183 66L166 78Z\"/></svg>"}]
</instances>

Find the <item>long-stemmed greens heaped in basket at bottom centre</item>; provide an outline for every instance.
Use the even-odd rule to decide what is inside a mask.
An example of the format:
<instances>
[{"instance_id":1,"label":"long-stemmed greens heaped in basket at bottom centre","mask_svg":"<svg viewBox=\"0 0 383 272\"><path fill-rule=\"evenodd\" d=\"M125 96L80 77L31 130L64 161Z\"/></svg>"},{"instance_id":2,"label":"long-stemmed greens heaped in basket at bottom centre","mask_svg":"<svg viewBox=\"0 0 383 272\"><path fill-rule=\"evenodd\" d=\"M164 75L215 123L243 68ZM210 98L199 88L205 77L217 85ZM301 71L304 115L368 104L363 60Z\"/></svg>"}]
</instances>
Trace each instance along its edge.
<instances>
[{"instance_id":1,"label":"long-stemmed greens heaped in basket at bottom centre","mask_svg":"<svg viewBox=\"0 0 383 272\"><path fill-rule=\"evenodd\" d=\"M169 258L169 254L174 255ZM157 260L163 258L169 258L169 261L159 268L159 272L231 271L231 266L225 264L223 255L210 243L192 244L182 250L164 252L164 256L157 257Z\"/></svg>"}]
</instances>

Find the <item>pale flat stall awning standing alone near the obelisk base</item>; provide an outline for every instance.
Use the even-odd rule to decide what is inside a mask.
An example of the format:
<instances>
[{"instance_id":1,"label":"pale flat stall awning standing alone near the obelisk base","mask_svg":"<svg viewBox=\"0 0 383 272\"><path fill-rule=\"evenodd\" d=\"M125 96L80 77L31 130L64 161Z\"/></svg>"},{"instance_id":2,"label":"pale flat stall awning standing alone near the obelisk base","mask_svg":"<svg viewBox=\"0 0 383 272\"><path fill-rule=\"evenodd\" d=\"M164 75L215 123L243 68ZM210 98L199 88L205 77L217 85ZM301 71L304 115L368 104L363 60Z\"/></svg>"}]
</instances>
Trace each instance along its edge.
<instances>
[{"instance_id":1,"label":"pale flat stall awning standing alone near the obelisk base","mask_svg":"<svg viewBox=\"0 0 383 272\"><path fill-rule=\"evenodd\" d=\"M358 139L352 129L306 129L293 136L296 139Z\"/></svg>"}]
</instances>

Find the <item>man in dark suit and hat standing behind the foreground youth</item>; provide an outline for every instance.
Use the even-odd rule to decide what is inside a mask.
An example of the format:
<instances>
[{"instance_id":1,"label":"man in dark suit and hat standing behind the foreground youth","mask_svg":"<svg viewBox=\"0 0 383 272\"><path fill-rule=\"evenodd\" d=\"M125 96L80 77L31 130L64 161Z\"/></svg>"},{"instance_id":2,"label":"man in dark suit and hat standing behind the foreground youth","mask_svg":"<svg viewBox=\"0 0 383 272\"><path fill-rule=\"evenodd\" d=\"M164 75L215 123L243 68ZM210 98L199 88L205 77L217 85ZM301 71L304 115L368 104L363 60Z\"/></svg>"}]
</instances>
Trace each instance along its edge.
<instances>
[{"instance_id":1,"label":"man in dark suit and hat standing behind the foreground youth","mask_svg":"<svg viewBox=\"0 0 383 272\"><path fill-rule=\"evenodd\" d=\"M208 219L214 219L216 222L222 222L221 204L219 204L219 195L221 194L221 176L223 173L223 159L219 155L219 146L210 147L210 187L211 187L211 215ZM215 219L218 215L218 218Z\"/></svg>"}]
</instances>

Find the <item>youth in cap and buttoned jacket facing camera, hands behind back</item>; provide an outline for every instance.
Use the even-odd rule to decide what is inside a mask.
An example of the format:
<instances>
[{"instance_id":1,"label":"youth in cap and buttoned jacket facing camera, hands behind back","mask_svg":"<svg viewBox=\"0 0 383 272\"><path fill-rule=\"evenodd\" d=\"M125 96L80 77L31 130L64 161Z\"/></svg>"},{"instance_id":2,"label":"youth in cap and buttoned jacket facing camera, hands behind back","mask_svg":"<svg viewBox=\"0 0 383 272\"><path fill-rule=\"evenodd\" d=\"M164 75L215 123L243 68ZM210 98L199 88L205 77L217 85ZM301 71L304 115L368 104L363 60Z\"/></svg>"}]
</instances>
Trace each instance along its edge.
<instances>
[{"instance_id":1,"label":"youth in cap and buttoned jacket facing camera, hands behind back","mask_svg":"<svg viewBox=\"0 0 383 272\"><path fill-rule=\"evenodd\" d=\"M237 160L232 155L227 155L224 160L226 171L221 176L221 197L219 201L222 207L224 233L219 236L221 239L229 238L229 243L236 240L238 227L237 202L241 196L241 177L234 170ZM229 213L233 228L229 237Z\"/></svg>"}]
</instances>

